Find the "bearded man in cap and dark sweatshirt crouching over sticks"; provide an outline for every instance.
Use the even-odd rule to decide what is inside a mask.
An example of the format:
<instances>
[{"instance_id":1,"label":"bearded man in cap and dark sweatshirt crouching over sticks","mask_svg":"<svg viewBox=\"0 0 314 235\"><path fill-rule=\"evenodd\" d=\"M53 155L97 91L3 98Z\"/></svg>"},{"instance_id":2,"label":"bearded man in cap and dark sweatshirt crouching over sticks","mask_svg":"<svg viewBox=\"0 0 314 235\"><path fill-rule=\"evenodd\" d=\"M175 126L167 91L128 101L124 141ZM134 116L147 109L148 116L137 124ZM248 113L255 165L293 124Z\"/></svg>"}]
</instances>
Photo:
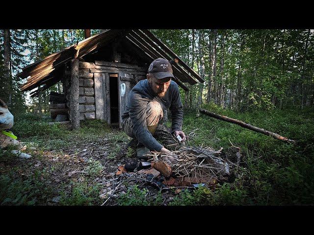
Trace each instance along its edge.
<instances>
[{"instance_id":1,"label":"bearded man in cap and dark sweatshirt crouching over sticks","mask_svg":"<svg viewBox=\"0 0 314 235\"><path fill-rule=\"evenodd\" d=\"M122 115L122 127L128 136L138 141L137 157L141 158L148 150L169 153L154 137L157 125L162 124L164 111L170 109L172 115L171 134L185 135L182 131L183 106L179 86L174 78L169 61L154 60L146 75L131 90L129 100Z\"/></svg>"}]
</instances>

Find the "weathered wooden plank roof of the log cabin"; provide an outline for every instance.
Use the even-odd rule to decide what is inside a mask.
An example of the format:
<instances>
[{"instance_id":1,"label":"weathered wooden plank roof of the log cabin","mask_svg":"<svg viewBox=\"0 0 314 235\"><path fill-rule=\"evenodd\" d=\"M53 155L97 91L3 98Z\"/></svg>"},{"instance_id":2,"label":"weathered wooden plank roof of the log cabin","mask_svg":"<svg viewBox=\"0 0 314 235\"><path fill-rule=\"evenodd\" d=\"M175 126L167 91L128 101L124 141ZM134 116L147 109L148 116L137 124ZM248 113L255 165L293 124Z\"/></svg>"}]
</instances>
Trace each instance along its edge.
<instances>
[{"instance_id":1,"label":"weathered wooden plank roof of the log cabin","mask_svg":"<svg viewBox=\"0 0 314 235\"><path fill-rule=\"evenodd\" d=\"M147 64L150 64L159 57L167 60L177 58L179 62L173 65L173 74L178 84L183 87L184 90L186 90L186 86L183 84L184 82L188 82L191 85L196 84L197 80L204 82L195 71L186 65L178 55L157 39L149 30L107 29L23 68L22 72L17 76L23 79L28 78L27 82L20 86L21 91L30 91L42 85L44 86L39 90L46 90L61 80L64 65L75 56L82 57L92 51L98 50L108 43L113 42L117 37L127 40L133 47L144 51ZM38 94L39 90L32 94Z\"/></svg>"}]
</instances>

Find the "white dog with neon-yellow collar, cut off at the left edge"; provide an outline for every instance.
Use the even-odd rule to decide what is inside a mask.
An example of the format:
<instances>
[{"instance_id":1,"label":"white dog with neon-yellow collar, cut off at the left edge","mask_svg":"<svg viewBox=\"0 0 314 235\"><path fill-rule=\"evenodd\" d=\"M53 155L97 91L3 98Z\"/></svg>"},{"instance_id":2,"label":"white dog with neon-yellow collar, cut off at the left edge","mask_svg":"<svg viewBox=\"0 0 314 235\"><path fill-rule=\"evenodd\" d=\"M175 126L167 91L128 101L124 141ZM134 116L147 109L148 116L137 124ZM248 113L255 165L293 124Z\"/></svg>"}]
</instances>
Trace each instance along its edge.
<instances>
[{"instance_id":1,"label":"white dog with neon-yellow collar, cut off at the left edge","mask_svg":"<svg viewBox=\"0 0 314 235\"><path fill-rule=\"evenodd\" d=\"M13 127L14 117L8 110L8 106L0 99L0 148L5 148L8 145L16 145L18 149L22 149L23 145L17 141L17 137L13 133L5 131ZM22 153L20 150L12 150L13 154L21 158L30 158L31 156Z\"/></svg>"}]
</instances>

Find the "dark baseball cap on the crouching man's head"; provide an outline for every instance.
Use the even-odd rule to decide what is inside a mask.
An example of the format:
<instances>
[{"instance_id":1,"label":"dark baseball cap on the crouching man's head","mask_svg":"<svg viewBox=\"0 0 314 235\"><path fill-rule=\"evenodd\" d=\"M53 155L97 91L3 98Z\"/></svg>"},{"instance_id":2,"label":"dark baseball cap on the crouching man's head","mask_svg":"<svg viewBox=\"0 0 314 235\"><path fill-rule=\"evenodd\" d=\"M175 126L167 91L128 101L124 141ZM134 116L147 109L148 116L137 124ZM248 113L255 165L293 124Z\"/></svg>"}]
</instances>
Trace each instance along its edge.
<instances>
[{"instance_id":1,"label":"dark baseball cap on the crouching man's head","mask_svg":"<svg viewBox=\"0 0 314 235\"><path fill-rule=\"evenodd\" d=\"M172 66L168 60L158 58L154 60L148 68L149 73L153 73L157 79L173 77Z\"/></svg>"}]
</instances>

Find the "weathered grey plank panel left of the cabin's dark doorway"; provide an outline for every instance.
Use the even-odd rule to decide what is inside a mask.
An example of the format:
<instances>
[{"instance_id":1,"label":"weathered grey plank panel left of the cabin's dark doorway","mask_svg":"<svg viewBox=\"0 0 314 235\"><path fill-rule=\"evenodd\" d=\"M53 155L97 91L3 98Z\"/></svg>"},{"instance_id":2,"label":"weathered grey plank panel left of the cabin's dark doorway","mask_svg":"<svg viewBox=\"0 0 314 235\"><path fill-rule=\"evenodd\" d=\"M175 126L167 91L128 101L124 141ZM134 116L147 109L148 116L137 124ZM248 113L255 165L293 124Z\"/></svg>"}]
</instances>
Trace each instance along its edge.
<instances>
[{"instance_id":1,"label":"weathered grey plank panel left of the cabin's dark doorway","mask_svg":"<svg viewBox=\"0 0 314 235\"><path fill-rule=\"evenodd\" d=\"M109 73L94 73L96 119L110 124L110 88Z\"/></svg>"}]
</instances>

